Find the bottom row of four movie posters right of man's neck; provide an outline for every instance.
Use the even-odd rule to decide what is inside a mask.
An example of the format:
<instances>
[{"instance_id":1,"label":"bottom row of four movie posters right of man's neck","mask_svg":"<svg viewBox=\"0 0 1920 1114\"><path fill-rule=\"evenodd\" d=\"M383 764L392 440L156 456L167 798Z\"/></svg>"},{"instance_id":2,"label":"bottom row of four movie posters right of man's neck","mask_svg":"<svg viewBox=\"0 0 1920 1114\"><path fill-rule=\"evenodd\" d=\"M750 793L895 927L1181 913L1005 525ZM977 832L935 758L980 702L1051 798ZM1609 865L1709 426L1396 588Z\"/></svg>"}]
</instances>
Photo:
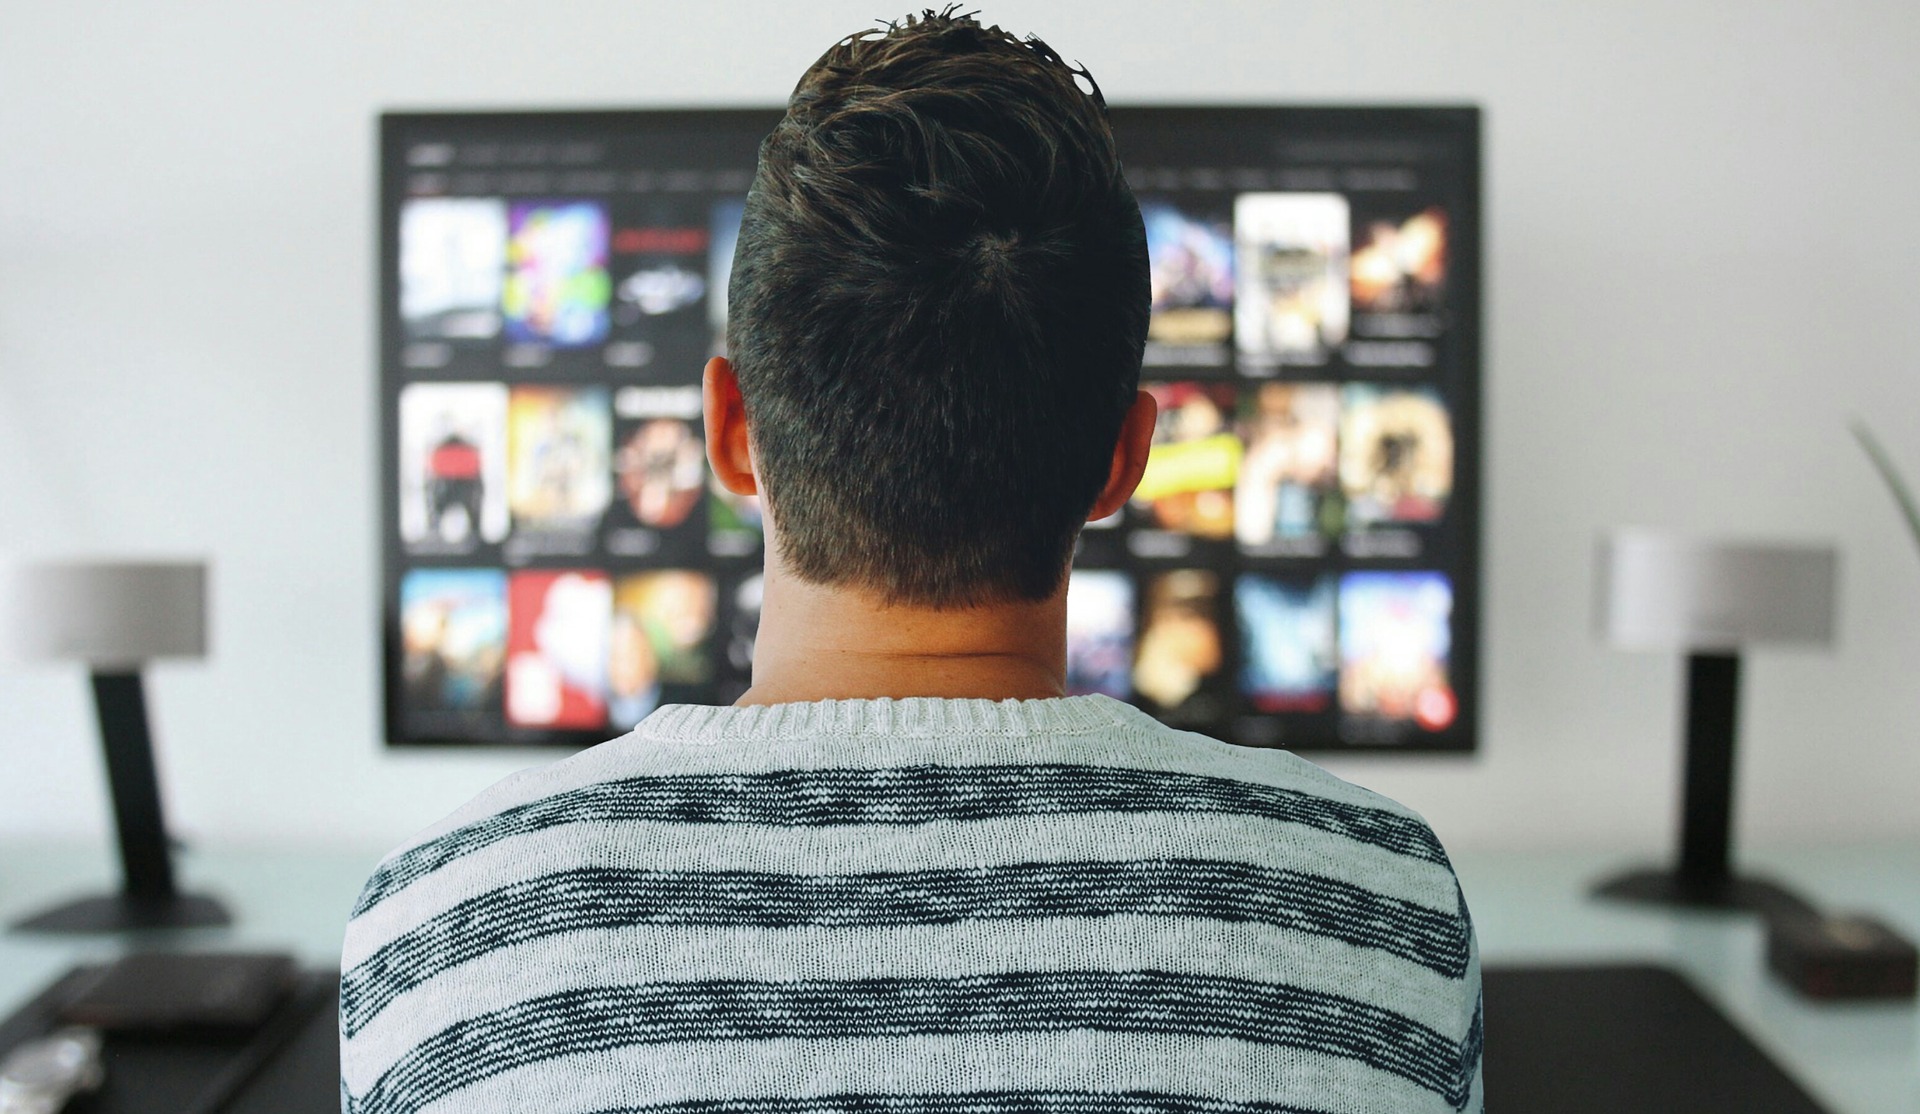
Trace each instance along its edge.
<instances>
[{"instance_id":1,"label":"bottom row of four movie posters right of man's neck","mask_svg":"<svg viewBox=\"0 0 1920 1114\"><path fill-rule=\"evenodd\" d=\"M1459 714L1452 617L1438 570L1075 569L1068 688L1242 743L1286 743L1300 716L1400 741Z\"/></svg>"}]
</instances>

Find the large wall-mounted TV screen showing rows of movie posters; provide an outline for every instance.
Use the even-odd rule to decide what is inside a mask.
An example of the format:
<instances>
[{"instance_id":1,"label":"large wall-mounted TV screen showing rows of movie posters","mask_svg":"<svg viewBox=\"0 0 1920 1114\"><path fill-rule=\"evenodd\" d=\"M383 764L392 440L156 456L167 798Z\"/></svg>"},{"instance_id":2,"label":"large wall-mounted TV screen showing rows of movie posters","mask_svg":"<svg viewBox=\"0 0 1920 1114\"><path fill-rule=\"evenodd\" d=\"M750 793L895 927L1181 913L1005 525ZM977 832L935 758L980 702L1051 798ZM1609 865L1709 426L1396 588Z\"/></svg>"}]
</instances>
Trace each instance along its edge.
<instances>
[{"instance_id":1,"label":"large wall-mounted TV screen showing rows of movie posters","mask_svg":"<svg viewBox=\"0 0 1920 1114\"><path fill-rule=\"evenodd\" d=\"M588 745L747 690L760 509L701 367L766 109L380 121L392 743ZM1133 501L1068 686L1221 739L1473 749L1480 121L1116 108L1152 261Z\"/></svg>"}]
</instances>

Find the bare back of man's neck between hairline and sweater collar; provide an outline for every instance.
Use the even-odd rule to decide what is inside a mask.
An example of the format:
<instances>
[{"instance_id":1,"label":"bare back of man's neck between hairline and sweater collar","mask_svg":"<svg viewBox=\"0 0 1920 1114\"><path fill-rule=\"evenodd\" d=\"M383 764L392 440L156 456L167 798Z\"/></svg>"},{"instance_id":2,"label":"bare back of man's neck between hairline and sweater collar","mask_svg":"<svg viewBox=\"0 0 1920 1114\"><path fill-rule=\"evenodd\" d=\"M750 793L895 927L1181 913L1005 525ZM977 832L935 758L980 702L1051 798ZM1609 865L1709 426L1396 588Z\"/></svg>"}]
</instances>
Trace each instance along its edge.
<instances>
[{"instance_id":1,"label":"bare back of man's neck between hairline and sweater collar","mask_svg":"<svg viewBox=\"0 0 1920 1114\"><path fill-rule=\"evenodd\" d=\"M806 584L768 561L753 688L741 705L1066 695L1066 590L958 611Z\"/></svg>"}]
</instances>

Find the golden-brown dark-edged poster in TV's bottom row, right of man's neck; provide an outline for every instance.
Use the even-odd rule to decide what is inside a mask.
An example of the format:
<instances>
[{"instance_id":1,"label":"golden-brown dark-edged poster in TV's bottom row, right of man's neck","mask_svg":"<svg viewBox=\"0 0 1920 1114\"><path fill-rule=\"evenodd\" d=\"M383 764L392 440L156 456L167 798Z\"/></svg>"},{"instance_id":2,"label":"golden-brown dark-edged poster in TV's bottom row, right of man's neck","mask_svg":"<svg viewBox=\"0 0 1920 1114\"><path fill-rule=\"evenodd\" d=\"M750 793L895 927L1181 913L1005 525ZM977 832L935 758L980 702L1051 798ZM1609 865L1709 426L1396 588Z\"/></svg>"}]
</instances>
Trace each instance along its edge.
<instances>
[{"instance_id":1,"label":"golden-brown dark-edged poster in TV's bottom row, right of man's neck","mask_svg":"<svg viewBox=\"0 0 1920 1114\"><path fill-rule=\"evenodd\" d=\"M1175 726L1219 724L1233 707L1219 574L1177 569L1146 580L1133 691Z\"/></svg>"}]
</instances>

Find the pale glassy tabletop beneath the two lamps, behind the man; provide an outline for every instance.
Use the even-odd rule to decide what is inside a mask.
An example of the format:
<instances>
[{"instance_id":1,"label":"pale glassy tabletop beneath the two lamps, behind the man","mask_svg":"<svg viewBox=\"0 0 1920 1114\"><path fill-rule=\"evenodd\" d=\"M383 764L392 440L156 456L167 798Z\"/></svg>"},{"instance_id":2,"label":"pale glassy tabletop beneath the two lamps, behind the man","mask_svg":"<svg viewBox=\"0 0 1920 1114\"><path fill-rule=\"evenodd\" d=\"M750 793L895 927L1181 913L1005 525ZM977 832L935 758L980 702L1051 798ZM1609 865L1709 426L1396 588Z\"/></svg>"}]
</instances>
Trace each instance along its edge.
<instances>
[{"instance_id":1,"label":"pale glassy tabletop beneath the two lamps, behind the man","mask_svg":"<svg viewBox=\"0 0 1920 1114\"><path fill-rule=\"evenodd\" d=\"M1588 887L1634 862L1594 853L1455 855L1480 951L1490 964L1657 962L1715 1001L1834 1114L1920 1114L1920 1012L1914 1003L1824 1005L1797 997L1764 964L1757 918L1601 903ZM378 855L225 849L186 855L188 889L232 908L230 930L179 933L207 949L284 949L332 966L361 882ZM1920 847L1755 853L1772 876L1828 912L1870 912L1920 937ZM113 884L106 849L0 845L0 924ZM148 937L150 941L154 937ZM150 947L152 943L148 943ZM77 962L127 947L113 937L0 933L0 1012ZM1498 1033L1488 1033L1498 1041Z\"/></svg>"}]
</instances>

